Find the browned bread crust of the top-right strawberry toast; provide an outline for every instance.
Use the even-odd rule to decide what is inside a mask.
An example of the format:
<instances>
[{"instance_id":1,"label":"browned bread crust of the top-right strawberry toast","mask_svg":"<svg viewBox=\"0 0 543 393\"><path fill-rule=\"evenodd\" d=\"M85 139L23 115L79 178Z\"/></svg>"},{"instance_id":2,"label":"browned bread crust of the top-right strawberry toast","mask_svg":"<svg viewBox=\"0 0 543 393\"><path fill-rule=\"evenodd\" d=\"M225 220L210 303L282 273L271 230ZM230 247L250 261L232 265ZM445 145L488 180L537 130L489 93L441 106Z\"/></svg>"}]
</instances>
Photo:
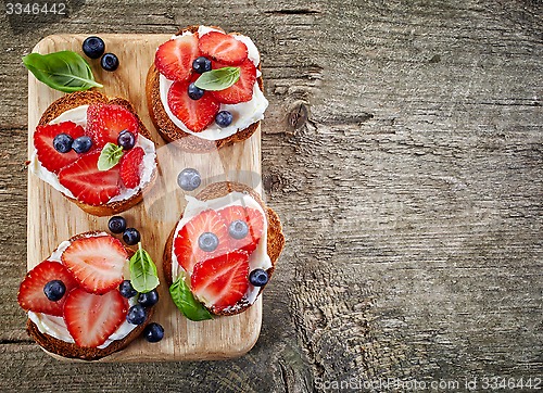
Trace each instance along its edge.
<instances>
[{"instance_id":1,"label":"browned bread crust of the top-right strawberry toast","mask_svg":"<svg viewBox=\"0 0 543 393\"><path fill-rule=\"evenodd\" d=\"M218 27L216 28L219 29ZM177 33L177 35L180 35L184 31L195 33L198 31L198 26L189 26L182 28ZM236 35L237 33L230 34ZM261 64L258 64L258 69L261 69ZM261 90L264 91L264 81L262 79L262 76L257 78L257 81ZM146 93L147 104L149 106L149 115L151 116L154 127L156 128L159 134L162 136L162 138L164 138L164 140L168 142L175 142L185 151L193 153L205 153L209 151L220 149L225 145L244 141L256 131L261 123L255 122L249 127L231 135L230 137L223 138L216 141L205 140L185 132L169 119L166 111L164 110L160 92L160 73L159 69L156 69L156 67L154 66L154 63L151 64L151 67L149 68L149 73L147 75Z\"/></svg>"}]
</instances>

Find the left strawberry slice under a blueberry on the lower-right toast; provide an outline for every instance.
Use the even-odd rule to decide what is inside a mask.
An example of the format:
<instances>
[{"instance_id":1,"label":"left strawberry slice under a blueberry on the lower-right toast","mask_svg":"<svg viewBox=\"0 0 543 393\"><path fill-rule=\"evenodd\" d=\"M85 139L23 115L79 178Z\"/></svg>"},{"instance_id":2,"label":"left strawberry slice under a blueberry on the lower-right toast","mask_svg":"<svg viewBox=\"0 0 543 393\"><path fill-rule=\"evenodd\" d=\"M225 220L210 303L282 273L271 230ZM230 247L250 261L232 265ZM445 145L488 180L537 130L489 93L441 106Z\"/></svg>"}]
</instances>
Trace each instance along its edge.
<instances>
[{"instance_id":1,"label":"left strawberry slice under a blueberry on the lower-right toast","mask_svg":"<svg viewBox=\"0 0 543 393\"><path fill-rule=\"evenodd\" d=\"M218 246L212 251L203 251L198 244L202 233L212 232L218 238ZM228 230L220 216L212 210L204 211L189 220L174 241L174 253L181 267L192 272L192 267L200 261L207 259L228 251Z\"/></svg>"}]
</instances>

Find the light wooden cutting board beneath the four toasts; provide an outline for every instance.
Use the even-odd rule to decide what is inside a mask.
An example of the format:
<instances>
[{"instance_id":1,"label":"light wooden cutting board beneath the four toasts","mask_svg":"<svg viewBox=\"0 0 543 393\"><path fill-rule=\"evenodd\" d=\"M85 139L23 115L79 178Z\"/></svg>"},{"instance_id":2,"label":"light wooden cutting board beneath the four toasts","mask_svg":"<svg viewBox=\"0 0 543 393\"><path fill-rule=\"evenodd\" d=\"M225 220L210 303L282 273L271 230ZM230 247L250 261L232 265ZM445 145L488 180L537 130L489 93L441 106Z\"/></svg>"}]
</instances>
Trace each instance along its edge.
<instances>
[{"instance_id":1,"label":"light wooden cutting board beneath the four toasts","mask_svg":"<svg viewBox=\"0 0 543 393\"><path fill-rule=\"evenodd\" d=\"M42 39L34 52L50 53L73 50L83 55L81 43L89 35L54 35ZM99 362L150 362L220 359L240 356L256 342L262 324L262 296L245 313L231 317L193 322L186 319L172 302L162 274L162 254L167 236L182 213L185 192L177 186L177 174L186 167L197 168L202 186L188 194L194 195L215 181L240 181L261 189L261 131L243 143L206 154L182 152L168 145L156 134L146 102L146 76L160 43L171 35L100 34L108 52L119 60L119 67L109 73L99 60L87 59L100 89L110 97L128 99L151 130L157 148L159 179L139 205L122 215L128 226L141 232L143 248L155 262L163 284L159 288L160 303L153 320L164 327L164 339L155 344L139 338L126 350ZM33 151L31 135L43 111L63 93L28 77L28 154ZM88 230L106 230L109 217L84 213L60 192L28 174L28 269L47 258L51 252L73 234Z\"/></svg>"}]
</instances>

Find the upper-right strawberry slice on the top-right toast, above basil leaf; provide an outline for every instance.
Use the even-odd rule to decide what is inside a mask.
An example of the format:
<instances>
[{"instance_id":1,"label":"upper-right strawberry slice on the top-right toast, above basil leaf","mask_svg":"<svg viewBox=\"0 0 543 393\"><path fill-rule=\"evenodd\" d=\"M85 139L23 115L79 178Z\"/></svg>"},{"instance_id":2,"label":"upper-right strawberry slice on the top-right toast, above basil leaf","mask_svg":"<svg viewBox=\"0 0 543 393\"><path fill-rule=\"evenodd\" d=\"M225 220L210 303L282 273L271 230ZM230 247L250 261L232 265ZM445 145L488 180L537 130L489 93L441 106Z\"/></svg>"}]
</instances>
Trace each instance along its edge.
<instances>
[{"instance_id":1,"label":"upper-right strawberry slice on the top-right toast, above basil leaf","mask_svg":"<svg viewBox=\"0 0 543 393\"><path fill-rule=\"evenodd\" d=\"M247 46L243 42L219 31L204 34L200 37L198 46L204 55L228 65L239 65L248 56Z\"/></svg>"}]
</instances>

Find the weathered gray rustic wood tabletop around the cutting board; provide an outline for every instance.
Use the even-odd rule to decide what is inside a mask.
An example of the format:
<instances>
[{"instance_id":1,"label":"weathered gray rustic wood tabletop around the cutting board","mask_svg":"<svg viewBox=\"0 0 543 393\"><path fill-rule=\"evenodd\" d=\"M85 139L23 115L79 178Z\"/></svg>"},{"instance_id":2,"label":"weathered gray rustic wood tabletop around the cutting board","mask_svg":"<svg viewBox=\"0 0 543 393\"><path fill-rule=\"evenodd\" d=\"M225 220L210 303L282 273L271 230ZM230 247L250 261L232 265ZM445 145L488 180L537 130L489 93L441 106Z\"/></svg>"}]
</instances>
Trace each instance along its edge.
<instances>
[{"instance_id":1,"label":"weathered gray rustic wood tabletop around the cutting board","mask_svg":"<svg viewBox=\"0 0 543 393\"><path fill-rule=\"evenodd\" d=\"M375 391L465 391L542 377L541 1L67 3L67 16L0 15L0 391L350 391L387 378L396 385ZM258 343L229 362L55 362L16 304L21 56L49 34L199 23L251 36L263 55L264 182L288 245Z\"/></svg>"}]
</instances>

